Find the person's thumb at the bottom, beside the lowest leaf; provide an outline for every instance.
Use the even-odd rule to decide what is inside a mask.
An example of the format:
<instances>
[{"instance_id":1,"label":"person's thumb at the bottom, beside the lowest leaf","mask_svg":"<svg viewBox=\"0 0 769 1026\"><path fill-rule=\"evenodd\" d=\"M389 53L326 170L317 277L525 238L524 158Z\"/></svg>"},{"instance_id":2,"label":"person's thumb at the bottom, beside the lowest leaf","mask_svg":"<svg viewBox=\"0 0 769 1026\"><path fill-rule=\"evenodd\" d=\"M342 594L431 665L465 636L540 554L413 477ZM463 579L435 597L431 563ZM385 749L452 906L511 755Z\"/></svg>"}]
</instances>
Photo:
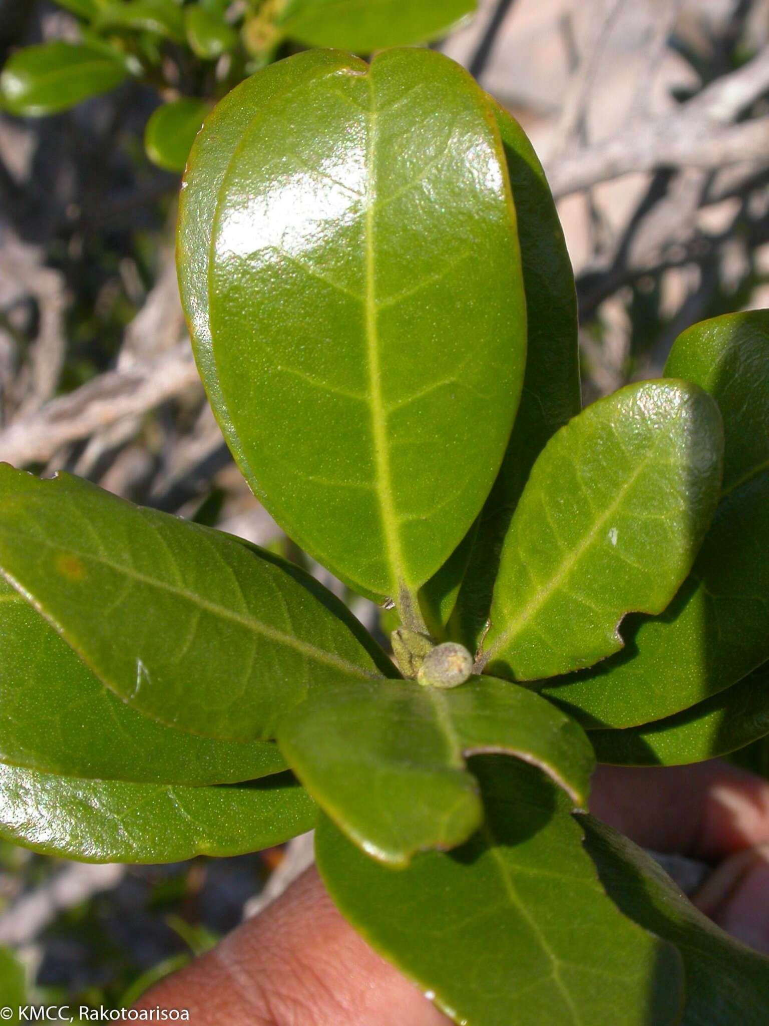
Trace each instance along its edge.
<instances>
[{"instance_id":1,"label":"person's thumb at the bottom, beside the lowest leaf","mask_svg":"<svg viewBox=\"0 0 769 1026\"><path fill-rule=\"evenodd\" d=\"M449 1023L348 925L315 868L134 1008L187 1009L193 1026Z\"/></svg>"}]
</instances>

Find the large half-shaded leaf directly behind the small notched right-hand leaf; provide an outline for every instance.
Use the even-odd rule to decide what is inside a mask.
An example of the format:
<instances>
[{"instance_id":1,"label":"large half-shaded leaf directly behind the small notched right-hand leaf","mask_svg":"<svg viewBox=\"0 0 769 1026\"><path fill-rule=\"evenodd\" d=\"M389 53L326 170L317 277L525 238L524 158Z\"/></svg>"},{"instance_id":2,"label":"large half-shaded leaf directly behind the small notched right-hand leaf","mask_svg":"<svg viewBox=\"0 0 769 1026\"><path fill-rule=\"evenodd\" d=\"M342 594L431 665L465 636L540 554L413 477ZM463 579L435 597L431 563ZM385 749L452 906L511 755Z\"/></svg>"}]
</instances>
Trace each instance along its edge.
<instances>
[{"instance_id":1,"label":"large half-shaded leaf directly behind the small notched right-hand leaf","mask_svg":"<svg viewBox=\"0 0 769 1026\"><path fill-rule=\"evenodd\" d=\"M665 372L706 389L721 407L724 498L664 615L632 618L624 653L545 690L589 726L671 716L769 661L769 312L695 324Z\"/></svg>"}]
</instances>

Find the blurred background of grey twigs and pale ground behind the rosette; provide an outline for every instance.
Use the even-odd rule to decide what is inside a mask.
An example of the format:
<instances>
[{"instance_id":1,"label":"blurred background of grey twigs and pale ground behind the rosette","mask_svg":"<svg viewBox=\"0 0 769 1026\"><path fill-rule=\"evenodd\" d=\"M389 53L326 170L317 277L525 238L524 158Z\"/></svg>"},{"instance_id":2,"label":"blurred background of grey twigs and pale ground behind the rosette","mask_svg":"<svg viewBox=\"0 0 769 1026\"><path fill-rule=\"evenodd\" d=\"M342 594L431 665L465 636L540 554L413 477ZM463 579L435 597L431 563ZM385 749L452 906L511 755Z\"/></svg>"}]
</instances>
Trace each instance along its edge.
<instances>
[{"instance_id":1,"label":"blurred background of grey twigs and pale ground behind the rosette","mask_svg":"<svg viewBox=\"0 0 769 1026\"><path fill-rule=\"evenodd\" d=\"M74 34L52 3L0 0L0 64ZM586 401L659 373L688 324L769 306L769 0L482 0L433 45L544 162ZM172 46L163 74L166 98L221 81ZM64 114L0 116L0 460L309 562L247 491L203 399L171 249L178 175L144 152L160 102L129 79ZM380 610L311 568L377 628ZM739 758L766 768L763 748ZM306 858L294 845L288 864ZM276 866L276 852L67 866L2 844L0 944L19 948L41 998L118 1007L240 921Z\"/></svg>"}]
</instances>

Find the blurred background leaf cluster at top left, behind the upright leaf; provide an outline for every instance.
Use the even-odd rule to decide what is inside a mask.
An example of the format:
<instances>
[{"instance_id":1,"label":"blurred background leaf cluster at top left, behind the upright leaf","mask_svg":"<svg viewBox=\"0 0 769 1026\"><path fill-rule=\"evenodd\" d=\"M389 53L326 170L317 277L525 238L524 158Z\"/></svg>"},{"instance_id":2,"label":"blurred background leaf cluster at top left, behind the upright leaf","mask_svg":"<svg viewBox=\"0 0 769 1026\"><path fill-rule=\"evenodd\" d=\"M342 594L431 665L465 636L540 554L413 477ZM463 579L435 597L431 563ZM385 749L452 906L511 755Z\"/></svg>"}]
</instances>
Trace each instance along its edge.
<instances>
[{"instance_id":1,"label":"blurred background leaf cluster at top left, behind the upright leaf","mask_svg":"<svg viewBox=\"0 0 769 1026\"><path fill-rule=\"evenodd\" d=\"M427 43L476 8L476 0L55 2L75 15L81 40L11 54L0 72L0 110L57 114L131 78L144 81L161 100L147 123L145 150L175 172L184 171L213 102L282 51L336 46L365 54Z\"/></svg>"}]
</instances>

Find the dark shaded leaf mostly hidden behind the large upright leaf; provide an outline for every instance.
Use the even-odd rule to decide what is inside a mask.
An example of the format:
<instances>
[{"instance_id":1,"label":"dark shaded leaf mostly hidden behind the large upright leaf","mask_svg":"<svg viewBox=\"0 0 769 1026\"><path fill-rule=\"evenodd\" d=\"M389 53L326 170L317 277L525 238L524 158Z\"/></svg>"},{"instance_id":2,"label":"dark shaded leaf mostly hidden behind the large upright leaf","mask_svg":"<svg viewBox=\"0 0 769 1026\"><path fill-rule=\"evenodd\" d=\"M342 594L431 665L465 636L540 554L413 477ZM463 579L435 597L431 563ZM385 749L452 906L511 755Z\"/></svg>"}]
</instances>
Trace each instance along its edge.
<instances>
[{"instance_id":1,"label":"dark shaded leaf mostly hidden behind the large upright leaf","mask_svg":"<svg viewBox=\"0 0 769 1026\"><path fill-rule=\"evenodd\" d=\"M437 606L437 619L444 624L458 593L449 633L471 652L478 648L488 620L502 542L531 467L552 435L581 407L576 290L556 204L525 132L507 111L490 104L518 216L528 311L526 374L501 470L474 537L462 543L463 563L452 559L447 564L454 571L450 585L442 568L420 595L428 609Z\"/></svg>"}]
</instances>

